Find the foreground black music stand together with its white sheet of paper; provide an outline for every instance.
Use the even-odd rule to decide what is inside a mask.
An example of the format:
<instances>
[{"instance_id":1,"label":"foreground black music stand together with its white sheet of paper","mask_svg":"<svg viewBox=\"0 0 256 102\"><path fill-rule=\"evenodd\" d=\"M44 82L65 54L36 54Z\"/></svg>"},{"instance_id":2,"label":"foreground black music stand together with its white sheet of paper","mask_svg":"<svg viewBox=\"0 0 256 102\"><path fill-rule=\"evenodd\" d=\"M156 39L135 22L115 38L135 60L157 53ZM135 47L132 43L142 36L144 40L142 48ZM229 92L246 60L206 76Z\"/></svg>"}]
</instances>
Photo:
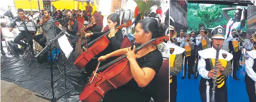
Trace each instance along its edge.
<instances>
[{"instance_id":1,"label":"foreground black music stand together with its white sheet of paper","mask_svg":"<svg viewBox=\"0 0 256 102\"><path fill-rule=\"evenodd\" d=\"M62 95L61 95L60 97L58 97L58 98L55 98L55 96L54 96L54 89L53 89L53 70L52 70L52 65L53 65L53 61L52 61L52 44L56 44L56 43L54 43L54 42L56 42L57 38L58 38L63 32L65 32L65 30L61 30L60 34L58 34L53 40L50 41L51 43L48 43L47 46L44 47L43 50L39 52L39 54L35 55L35 57L38 57L38 56L40 55L40 53L43 52L47 47L50 48L50 69L51 69L52 98L48 98L48 97L44 96L44 94L47 92L47 90L46 90L46 92L44 92L44 93L42 93L42 94L39 93L39 94L35 94L35 95L36 95L36 96L39 96L39 97L41 97L41 98L45 98L45 99L51 100L51 102L56 102L56 100L58 100L59 98L61 98L62 96L64 96L65 94L67 94L67 93L69 93L69 92L71 91L71 90L69 90L68 92L62 94ZM63 36L62 36L61 38L59 38L59 39L60 39L60 40L63 40L63 39L65 39L65 37L66 37L66 36L63 35ZM66 38L66 40L67 40L67 38ZM69 44L69 45L70 45L70 44ZM69 46L67 46L67 45L65 45L65 46L66 46L67 49L64 49L64 50L71 51L71 52L73 51L73 47L71 47L71 45L70 45L71 49L70 49ZM61 48L61 47L60 47L60 48ZM63 50L61 50L61 49L60 49L60 51L61 51L61 53L64 53L64 55L65 55L67 58L68 58L69 55L71 54L71 52L68 54L67 51L64 51L64 52L63 52ZM64 65L65 65L65 64L64 64ZM63 77L63 76L62 76L62 77ZM62 78L62 77L61 77L61 78ZM59 79L61 79L61 78L59 78ZM59 79L57 79L56 81L58 81ZM56 81L54 81L54 82L56 82ZM65 86L66 86L66 80L65 80ZM50 89L51 89L51 88L50 88Z\"/></svg>"}]
</instances>

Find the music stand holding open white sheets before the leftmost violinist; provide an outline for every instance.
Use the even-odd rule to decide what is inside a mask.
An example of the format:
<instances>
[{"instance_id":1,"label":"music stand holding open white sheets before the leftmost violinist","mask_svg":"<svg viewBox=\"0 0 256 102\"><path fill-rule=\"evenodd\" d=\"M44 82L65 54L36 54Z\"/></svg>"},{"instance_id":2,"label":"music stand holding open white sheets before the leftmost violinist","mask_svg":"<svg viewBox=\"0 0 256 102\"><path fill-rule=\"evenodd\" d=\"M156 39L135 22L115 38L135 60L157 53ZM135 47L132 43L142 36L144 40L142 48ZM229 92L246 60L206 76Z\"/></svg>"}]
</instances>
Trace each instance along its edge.
<instances>
[{"instance_id":1,"label":"music stand holding open white sheets before the leftmost violinist","mask_svg":"<svg viewBox=\"0 0 256 102\"><path fill-rule=\"evenodd\" d=\"M16 21L15 23L17 25L17 28L20 31L24 31L25 30L25 32L26 32L26 38L27 38L26 40L27 40L27 43L28 43L28 46L29 46L29 53L30 53L30 61L29 61L29 64L28 64L28 67L29 67L30 64L31 64L31 60L32 60L32 53L31 53L31 47L30 47L30 42L29 42L27 30L28 31L36 31L35 24L34 24L33 21L25 21L25 20L23 20L23 21ZM31 35L31 36L33 37L33 35Z\"/></svg>"}]
</instances>

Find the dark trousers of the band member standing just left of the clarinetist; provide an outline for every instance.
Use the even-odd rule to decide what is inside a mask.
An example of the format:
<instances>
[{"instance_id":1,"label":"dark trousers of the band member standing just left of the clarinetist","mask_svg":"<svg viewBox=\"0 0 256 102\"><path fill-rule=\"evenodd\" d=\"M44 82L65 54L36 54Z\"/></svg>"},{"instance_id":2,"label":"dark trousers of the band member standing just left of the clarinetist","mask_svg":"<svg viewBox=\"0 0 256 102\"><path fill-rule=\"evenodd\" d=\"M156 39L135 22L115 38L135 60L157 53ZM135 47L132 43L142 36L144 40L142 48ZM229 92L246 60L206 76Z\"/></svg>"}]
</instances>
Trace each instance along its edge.
<instances>
[{"instance_id":1,"label":"dark trousers of the band member standing just left of the clarinetist","mask_svg":"<svg viewBox=\"0 0 256 102\"><path fill-rule=\"evenodd\" d=\"M191 73L193 72L193 66L194 66L194 62L193 62L193 56L187 56L185 57L185 61L184 61L184 68L183 69L187 69L187 64L188 64L188 76L190 77L191 76ZM186 76L186 71L183 72L184 76Z\"/></svg>"}]
</instances>

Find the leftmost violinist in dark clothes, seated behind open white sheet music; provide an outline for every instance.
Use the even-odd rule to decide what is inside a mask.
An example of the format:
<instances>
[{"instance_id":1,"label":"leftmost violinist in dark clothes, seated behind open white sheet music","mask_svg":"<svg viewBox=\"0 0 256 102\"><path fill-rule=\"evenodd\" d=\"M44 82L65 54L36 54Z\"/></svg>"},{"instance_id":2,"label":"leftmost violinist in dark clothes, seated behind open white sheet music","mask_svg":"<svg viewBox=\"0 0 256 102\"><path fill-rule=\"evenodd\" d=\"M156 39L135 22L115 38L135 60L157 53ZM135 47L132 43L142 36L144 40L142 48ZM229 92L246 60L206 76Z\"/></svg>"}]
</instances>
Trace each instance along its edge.
<instances>
[{"instance_id":1,"label":"leftmost violinist in dark clothes, seated behind open white sheet music","mask_svg":"<svg viewBox=\"0 0 256 102\"><path fill-rule=\"evenodd\" d=\"M29 21L28 17L24 16L24 11L23 9L18 9L17 10L19 17L15 20L16 21ZM13 23L9 26L9 31L13 31L13 28L16 26L16 23ZM21 40L23 38L27 38L29 40L29 45L30 45L30 50L34 51L33 49L33 40L32 40L32 35L33 33L31 31L27 31L27 35L26 35L26 31L20 31L20 33L17 35L17 37L14 38L14 43L17 43L19 45L21 45L23 47L23 50L26 50L26 48L28 47L28 45L26 43L21 42Z\"/></svg>"}]
</instances>

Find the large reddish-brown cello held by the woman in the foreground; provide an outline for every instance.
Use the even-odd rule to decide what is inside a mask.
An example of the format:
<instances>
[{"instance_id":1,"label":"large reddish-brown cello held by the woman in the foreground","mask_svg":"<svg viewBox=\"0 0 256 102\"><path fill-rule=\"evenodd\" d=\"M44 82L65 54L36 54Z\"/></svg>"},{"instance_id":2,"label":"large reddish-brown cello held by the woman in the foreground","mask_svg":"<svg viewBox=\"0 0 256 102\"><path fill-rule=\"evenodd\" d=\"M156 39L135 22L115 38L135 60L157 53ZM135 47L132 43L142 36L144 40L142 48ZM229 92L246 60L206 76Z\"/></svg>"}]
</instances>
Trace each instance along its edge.
<instances>
[{"instance_id":1,"label":"large reddish-brown cello held by the woman in the foreground","mask_svg":"<svg viewBox=\"0 0 256 102\"><path fill-rule=\"evenodd\" d=\"M135 53L151 44L158 45L162 42L167 43L167 41L169 41L169 36L151 39L148 43L137 47ZM133 46L131 49L133 49ZM82 102L100 102L104 98L105 93L111 89L117 89L119 86L125 85L132 77L129 61L126 55L121 55L108 64L95 69L89 82L87 82L80 93L79 100Z\"/></svg>"}]
</instances>

